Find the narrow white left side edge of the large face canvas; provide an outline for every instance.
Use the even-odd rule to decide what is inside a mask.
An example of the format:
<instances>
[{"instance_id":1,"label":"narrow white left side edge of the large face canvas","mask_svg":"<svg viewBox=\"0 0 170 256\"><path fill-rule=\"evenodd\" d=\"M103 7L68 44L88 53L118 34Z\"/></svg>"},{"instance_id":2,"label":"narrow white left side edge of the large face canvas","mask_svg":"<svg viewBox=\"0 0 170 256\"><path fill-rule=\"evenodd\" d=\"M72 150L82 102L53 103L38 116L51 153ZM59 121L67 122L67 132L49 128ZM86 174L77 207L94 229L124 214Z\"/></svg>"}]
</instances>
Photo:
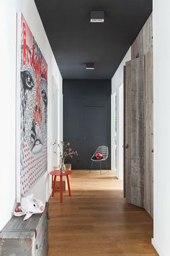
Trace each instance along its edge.
<instances>
[{"instance_id":1,"label":"narrow white left side edge of the large face canvas","mask_svg":"<svg viewBox=\"0 0 170 256\"><path fill-rule=\"evenodd\" d=\"M21 129L20 129L20 106L21 106L21 100L20 100L20 69L21 69L21 12L17 13L17 44L16 44L16 50L17 50L17 61L16 61L16 197L17 202L20 202L21 199L21 192L20 192L20 180L21 180L21 163L20 163L20 154L21 154Z\"/></svg>"}]
</instances>

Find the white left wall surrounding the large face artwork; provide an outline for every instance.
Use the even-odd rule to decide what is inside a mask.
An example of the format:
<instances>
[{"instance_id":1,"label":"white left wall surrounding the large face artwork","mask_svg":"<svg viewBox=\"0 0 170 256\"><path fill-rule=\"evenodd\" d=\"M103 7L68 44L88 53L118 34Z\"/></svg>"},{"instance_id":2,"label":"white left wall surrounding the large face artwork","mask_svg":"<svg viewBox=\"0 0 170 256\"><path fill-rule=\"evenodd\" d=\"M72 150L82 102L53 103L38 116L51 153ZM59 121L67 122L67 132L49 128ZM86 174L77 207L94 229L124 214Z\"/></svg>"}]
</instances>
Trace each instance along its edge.
<instances>
[{"instance_id":1,"label":"white left wall surrounding the large face artwork","mask_svg":"<svg viewBox=\"0 0 170 256\"><path fill-rule=\"evenodd\" d=\"M1 0L0 8L0 72L1 72L1 171L0 171L0 230L12 216L16 203L16 170L15 170L15 88L16 88L16 33L17 12L22 12L38 46L48 63L48 171L51 170L51 124L52 124L52 75L58 84L62 99L62 77L55 62L48 38L33 0ZM62 110L62 103L58 108ZM62 121L62 118L61 118ZM61 127L62 139L62 124ZM35 197L48 200L50 195L48 174L42 176L32 189Z\"/></svg>"}]
</instances>

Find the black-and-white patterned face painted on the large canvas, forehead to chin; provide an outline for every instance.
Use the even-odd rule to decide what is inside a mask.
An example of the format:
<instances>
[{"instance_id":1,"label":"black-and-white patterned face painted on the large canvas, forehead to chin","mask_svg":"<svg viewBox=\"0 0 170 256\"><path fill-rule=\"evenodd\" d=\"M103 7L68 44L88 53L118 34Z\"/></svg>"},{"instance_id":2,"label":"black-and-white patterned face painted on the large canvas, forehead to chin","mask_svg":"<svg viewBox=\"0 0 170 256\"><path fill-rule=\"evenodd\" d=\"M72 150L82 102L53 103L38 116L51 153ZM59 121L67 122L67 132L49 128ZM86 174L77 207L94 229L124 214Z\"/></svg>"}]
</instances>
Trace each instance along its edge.
<instances>
[{"instance_id":1,"label":"black-and-white patterned face painted on the large canvas, forehead to chin","mask_svg":"<svg viewBox=\"0 0 170 256\"><path fill-rule=\"evenodd\" d=\"M47 82L35 77L35 69L26 64L21 70L23 132L33 154L40 153L47 124Z\"/></svg>"}]
</instances>

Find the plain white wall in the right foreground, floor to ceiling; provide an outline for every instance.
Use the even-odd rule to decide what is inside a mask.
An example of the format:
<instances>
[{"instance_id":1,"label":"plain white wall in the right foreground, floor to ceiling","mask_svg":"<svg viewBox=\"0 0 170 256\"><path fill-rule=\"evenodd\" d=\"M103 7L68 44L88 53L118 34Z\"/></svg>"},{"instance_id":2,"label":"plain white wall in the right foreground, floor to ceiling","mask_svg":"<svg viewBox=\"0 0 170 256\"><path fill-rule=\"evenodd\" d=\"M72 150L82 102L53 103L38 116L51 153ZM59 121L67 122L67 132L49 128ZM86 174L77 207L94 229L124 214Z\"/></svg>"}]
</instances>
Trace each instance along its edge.
<instances>
[{"instance_id":1,"label":"plain white wall in the right foreground, floor to ceiling","mask_svg":"<svg viewBox=\"0 0 170 256\"><path fill-rule=\"evenodd\" d=\"M170 255L170 1L153 0L154 231L159 255Z\"/></svg>"}]
</instances>

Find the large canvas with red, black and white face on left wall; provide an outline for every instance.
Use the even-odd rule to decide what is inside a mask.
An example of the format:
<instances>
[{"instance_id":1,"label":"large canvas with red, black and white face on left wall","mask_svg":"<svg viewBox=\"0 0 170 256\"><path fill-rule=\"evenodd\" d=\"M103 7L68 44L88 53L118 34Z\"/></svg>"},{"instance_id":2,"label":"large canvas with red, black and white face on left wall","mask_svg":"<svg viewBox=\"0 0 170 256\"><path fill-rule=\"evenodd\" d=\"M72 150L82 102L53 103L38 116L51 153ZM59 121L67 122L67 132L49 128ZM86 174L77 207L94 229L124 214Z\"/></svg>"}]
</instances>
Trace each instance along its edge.
<instances>
[{"instance_id":1,"label":"large canvas with red, black and white face on left wall","mask_svg":"<svg viewBox=\"0 0 170 256\"><path fill-rule=\"evenodd\" d=\"M47 171L48 65L22 19L20 66L21 196Z\"/></svg>"}]
</instances>

